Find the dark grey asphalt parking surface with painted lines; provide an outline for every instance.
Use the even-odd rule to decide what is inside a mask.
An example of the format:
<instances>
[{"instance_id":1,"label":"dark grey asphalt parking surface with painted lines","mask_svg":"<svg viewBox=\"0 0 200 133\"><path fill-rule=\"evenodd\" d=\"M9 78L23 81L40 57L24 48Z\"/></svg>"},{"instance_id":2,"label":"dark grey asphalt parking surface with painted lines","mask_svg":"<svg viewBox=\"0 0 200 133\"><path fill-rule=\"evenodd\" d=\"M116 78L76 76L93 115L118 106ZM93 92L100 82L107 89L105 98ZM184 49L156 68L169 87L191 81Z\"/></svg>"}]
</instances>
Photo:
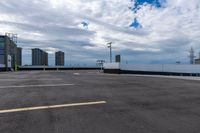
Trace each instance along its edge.
<instances>
[{"instance_id":1,"label":"dark grey asphalt parking surface with painted lines","mask_svg":"<svg viewBox=\"0 0 200 133\"><path fill-rule=\"evenodd\" d=\"M199 133L200 81L193 79L3 72L0 133Z\"/></svg>"}]
</instances>

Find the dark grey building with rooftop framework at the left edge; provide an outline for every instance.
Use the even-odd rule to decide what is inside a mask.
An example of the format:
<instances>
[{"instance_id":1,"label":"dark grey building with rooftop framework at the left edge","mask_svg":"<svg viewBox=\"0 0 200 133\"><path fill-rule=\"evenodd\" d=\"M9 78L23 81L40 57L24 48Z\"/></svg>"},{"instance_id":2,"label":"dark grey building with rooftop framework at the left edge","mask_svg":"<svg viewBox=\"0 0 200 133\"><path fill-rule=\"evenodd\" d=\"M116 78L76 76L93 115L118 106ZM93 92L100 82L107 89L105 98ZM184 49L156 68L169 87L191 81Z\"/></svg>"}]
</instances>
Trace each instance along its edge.
<instances>
[{"instance_id":1,"label":"dark grey building with rooftop framework at the left edge","mask_svg":"<svg viewBox=\"0 0 200 133\"><path fill-rule=\"evenodd\" d=\"M0 35L0 71L16 70L21 62L15 36Z\"/></svg>"}]
</instances>

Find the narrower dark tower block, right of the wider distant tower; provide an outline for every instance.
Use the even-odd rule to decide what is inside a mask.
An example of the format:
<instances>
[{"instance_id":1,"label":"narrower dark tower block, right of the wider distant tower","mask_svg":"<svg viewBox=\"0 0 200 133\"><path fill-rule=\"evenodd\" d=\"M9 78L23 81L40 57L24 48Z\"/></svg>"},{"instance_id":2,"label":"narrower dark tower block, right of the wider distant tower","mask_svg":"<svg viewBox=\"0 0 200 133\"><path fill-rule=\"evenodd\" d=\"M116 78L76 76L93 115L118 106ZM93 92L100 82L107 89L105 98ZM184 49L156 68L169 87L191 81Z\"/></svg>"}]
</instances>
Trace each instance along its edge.
<instances>
[{"instance_id":1,"label":"narrower dark tower block, right of the wider distant tower","mask_svg":"<svg viewBox=\"0 0 200 133\"><path fill-rule=\"evenodd\" d=\"M62 51L56 52L55 56L55 65L64 66L65 65L65 53Z\"/></svg>"}]
</instances>

